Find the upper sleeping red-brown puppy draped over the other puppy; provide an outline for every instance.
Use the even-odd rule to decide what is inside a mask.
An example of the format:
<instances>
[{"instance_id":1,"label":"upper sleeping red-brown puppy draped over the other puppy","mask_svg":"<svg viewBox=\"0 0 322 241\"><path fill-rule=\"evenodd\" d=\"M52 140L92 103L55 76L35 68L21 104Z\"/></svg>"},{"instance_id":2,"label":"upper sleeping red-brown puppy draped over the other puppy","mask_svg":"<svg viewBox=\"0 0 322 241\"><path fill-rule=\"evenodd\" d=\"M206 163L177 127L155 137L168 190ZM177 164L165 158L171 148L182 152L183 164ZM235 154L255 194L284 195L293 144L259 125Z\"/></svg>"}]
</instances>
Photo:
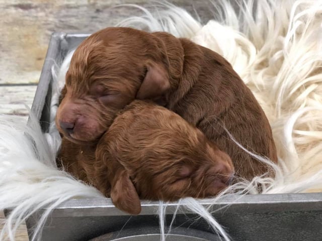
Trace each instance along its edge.
<instances>
[{"instance_id":1,"label":"upper sleeping red-brown puppy draped over the other puppy","mask_svg":"<svg viewBox=\"0 0 322 241\"><path fill-rule=\"evenodd\" d=\"M269 122L250 89L223 57L187 39L103 29L74 52L62 97L56 125L77 144L97 141L120 109L149 99L199 128L230 156L240 177L272 170L241 150L227 131L248 150L277 162Z\"/></svg>"}]
</instances>

